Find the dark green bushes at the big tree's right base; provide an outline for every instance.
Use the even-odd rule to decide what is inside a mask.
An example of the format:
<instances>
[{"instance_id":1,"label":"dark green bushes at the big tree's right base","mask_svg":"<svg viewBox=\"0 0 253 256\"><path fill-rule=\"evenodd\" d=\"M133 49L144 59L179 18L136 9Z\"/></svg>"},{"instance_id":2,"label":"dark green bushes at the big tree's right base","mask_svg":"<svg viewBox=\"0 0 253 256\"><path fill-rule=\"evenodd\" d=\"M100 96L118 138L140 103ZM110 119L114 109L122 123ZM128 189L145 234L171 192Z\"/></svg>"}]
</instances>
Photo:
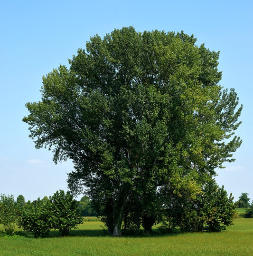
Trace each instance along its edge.
<instances>
[{"instance_id":1,"label":"dark green bushes at the big tree's right base","mask_svg":"<svg viewBox=\"0 0 253 256\"><path fill-rule=\"evenodd\" d=\"M224 187L218 187L211 178L195 199L173 194L162 211L163 232L175 228L182 232L217 232L233 225L236 214L232 195L228 197Z\"/></svg>"}]
</instances>

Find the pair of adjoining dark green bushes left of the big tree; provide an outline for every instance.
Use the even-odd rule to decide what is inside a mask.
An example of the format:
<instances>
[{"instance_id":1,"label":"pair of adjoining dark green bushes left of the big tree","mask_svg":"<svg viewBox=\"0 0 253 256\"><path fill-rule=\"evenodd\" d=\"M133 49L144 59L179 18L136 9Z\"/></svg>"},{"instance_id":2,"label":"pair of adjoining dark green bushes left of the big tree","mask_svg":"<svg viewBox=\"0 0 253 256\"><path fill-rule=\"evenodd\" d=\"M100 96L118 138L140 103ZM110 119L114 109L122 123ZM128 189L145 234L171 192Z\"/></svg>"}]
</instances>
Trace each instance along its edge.
<instances>
[{"instance_id":1,"label":"pair of adjoining dark green bushes left of the big tree","mask_svg":"<svg viewBox=\"0 0 253 256\"><path fill-rule=\"evenodd\" d=\"M25 205L19 221L19 227L32 232L35 237L48 236L51 228L59 229L62 236L69 234L71 228L83 222L78 211L78 203L73 196L63 190L56 191L53 196L38 198Z\"/></svg>"}]
</instances>

